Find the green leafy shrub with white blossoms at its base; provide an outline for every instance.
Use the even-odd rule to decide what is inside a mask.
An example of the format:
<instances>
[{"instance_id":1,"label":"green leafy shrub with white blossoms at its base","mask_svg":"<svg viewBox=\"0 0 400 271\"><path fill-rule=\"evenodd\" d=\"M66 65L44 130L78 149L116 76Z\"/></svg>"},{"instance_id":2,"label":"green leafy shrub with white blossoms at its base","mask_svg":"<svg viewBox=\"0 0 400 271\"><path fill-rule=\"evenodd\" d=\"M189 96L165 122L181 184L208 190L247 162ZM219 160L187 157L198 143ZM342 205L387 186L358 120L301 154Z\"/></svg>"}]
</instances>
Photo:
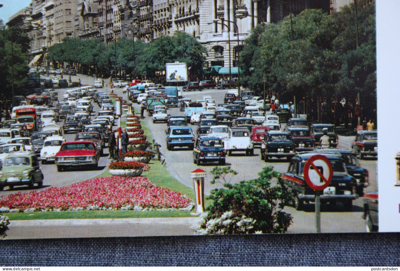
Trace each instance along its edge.
<instances>
[{"instance_id":1,"label":"green leafy shrub with white blossoms at its base","mask_svg":"<svg viewBox=\"0 0 400 271\"><path fill-rule=\"evenodd\" d=\"M214 174L214 181L225 179L226 174L232 173L230 170L230 167L214 168L212 173L219 173L219 176ZM225 182L225 188L212 190L208 197L212 204L196 231L199 234L286 232L292 216L282 209L293 202L293 195L284 188L280 173L273 167L265 167L258 175L258 179L234 185ZM271 185L272 179L277 185Z\"/></svg>"}]
</instances>

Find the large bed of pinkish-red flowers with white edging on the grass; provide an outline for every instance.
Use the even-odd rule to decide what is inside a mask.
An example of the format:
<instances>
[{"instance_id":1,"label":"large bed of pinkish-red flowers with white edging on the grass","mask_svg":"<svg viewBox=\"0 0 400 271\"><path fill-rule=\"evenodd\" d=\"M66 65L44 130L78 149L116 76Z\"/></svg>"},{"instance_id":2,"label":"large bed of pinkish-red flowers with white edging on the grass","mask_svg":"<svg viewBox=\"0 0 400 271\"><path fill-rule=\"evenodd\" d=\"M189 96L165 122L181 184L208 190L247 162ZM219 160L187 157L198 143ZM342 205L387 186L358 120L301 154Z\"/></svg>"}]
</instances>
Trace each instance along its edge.
<instances>
[{"instance_id":1,"label":"large bed of pinkish-red flowers with white edging on the grass","mask_svg":"<svg viewBox=\"0 0 400 271\"><path fill-rule=\"evenodd\" d=\"M0 197L0 211L191 210L186 195L162 188L145 177L102 177L42 191Z\"/></svg>"}]
</instances>

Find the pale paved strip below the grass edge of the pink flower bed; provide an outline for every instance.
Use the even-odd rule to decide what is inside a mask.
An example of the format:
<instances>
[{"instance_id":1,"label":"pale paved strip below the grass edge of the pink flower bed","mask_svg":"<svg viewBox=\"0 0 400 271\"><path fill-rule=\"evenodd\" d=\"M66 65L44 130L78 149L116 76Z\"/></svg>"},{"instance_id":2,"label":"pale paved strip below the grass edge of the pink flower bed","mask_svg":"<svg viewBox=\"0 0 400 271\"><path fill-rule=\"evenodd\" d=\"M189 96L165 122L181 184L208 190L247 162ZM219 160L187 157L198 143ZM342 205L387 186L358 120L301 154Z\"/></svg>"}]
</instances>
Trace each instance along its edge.
<instances>
[{"instance_id":1,"label":"pale paved strip below the grass edge of the pink flower bed","mask_svg":"<svg viewBox=\"0 0 400 271\"><path fill-rule=\"evenodd\" d=\"M4 239L195 235L199 217L12 220Z\"/></svg>"}]
</instances>

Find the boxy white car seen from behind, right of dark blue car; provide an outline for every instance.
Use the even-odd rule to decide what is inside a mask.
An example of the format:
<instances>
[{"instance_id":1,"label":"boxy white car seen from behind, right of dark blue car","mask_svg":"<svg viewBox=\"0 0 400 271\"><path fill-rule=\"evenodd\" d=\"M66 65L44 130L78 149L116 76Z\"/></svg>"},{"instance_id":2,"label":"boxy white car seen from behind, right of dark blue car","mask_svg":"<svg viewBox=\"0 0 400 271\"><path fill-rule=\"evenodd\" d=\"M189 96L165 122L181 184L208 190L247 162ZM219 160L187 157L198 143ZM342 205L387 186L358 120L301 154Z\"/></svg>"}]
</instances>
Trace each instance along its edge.
<instances>
[{"instance_id":1,"label":"boxy white car seen from behind, right of dark blue car","mask_svg":"<svg viewBox=\"0 0 400 271\"><path fill-rule=\"evenodd\" d=\"M246 156L254 154L254 146L250 139L250 132L245 127L232 127L228 137L224 139L224 149L228 155L232 151L245 151Z\"/></svg>"}]
</instances>

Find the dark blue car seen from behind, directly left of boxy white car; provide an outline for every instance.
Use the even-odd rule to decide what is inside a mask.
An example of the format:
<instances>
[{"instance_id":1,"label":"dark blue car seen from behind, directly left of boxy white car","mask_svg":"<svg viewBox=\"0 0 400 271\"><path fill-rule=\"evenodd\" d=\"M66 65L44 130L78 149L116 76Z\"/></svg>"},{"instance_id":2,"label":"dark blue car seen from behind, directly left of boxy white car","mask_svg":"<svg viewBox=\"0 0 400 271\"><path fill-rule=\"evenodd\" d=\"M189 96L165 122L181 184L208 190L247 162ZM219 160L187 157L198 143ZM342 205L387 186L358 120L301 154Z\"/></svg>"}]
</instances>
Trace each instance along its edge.
<instances>
[{"instance_id":1,"label":"dark blue car seen from behind, directly left of boxy white car","mask_svg":"<svg viewBox=\"0 0 400 271\"><path fill-rule=\"evenodd\" d=\"M218 137L201 137L196 140L193 149L193 163L218 162L225 165L225 151L221 139Z\"/></svg>"}]
</instances>

